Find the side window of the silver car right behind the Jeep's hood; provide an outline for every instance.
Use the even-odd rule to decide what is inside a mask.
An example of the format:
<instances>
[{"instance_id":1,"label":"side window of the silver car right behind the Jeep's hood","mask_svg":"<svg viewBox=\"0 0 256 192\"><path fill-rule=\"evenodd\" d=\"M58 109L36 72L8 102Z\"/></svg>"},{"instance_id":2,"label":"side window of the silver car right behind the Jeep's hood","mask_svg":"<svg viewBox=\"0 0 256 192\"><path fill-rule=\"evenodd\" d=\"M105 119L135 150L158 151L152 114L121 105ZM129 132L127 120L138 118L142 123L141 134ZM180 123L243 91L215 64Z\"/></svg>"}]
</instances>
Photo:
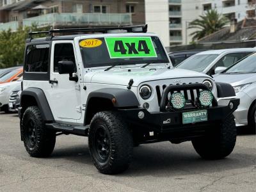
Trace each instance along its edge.
<instances>
[{"instance_id":1,"label":"side window of the silver car right behind the Jeep's hood","mask_svg":"<svg viewBox=\"0 0 256 192\"><path fill-rule=\"evenodd\" d=\"M216 67L230 67L230 65L236 63L251 53L252 52L236 52L227 54L216 63Z\"/></svg>"}]
</instances>

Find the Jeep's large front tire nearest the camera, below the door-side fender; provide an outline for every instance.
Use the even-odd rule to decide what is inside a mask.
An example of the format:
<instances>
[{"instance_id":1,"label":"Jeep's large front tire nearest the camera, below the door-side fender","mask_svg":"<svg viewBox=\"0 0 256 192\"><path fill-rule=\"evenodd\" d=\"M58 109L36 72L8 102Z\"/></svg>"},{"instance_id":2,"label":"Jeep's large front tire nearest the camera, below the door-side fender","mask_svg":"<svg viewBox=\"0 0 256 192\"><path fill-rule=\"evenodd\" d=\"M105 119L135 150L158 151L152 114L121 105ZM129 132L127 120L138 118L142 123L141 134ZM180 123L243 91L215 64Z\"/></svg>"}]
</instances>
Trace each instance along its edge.
<instances>
[{"instance_id":1,"label":"Jeep's large front tire nearest the camera, below the door-side fender","mask_svg":"<svg viewBox=\"0 0 256 192\"><path fill-rule=\"evenodd\" d=\"M108 147L106 147L108 150L106 150L104 158L103 155L100 156L102 151L99 150L101 146L104 146L99 144L102 143L100 140L103 140L100 134L97 134L100 131L105 131L106 143L108 143ZM116 112L102 111L93 116L89 129L88 144L93 164L101 173L116 174L124 172L132 161L132 135L125 121Z\"/></svg>"}]
</instances>

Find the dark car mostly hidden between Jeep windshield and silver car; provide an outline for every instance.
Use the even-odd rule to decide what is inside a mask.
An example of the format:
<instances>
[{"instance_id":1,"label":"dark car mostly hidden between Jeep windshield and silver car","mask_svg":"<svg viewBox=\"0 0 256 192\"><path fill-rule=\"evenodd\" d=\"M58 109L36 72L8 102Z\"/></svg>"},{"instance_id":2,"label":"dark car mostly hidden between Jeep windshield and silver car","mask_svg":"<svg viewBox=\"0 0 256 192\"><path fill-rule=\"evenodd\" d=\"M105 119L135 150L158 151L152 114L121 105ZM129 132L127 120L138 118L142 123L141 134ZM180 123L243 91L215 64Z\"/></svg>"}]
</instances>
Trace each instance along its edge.
<instances>
[{"instance_id":1,"label":"dark car mostly hidden between Jeep windshield and silver car","mask_svg":"<svg viewBox=\"0 0 256 192\"><path fill-rule=\"evenodd\" d=\"M202 51L206 51L206 50L175 51L175 52L169 52L168 54L172 61L173 67L176 67L182 61L188 59L190 56L193 56L194 54Z\"/></svg>"}]
</instances>

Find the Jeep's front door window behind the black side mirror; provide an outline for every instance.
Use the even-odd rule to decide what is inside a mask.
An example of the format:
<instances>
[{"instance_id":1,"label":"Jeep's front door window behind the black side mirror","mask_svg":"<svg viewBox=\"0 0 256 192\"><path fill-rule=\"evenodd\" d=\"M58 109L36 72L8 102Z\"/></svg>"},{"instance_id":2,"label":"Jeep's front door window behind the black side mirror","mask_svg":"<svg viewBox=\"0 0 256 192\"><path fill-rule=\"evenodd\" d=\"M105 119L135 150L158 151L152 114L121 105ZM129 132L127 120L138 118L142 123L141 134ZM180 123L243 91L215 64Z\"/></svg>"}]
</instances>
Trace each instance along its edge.
<instances>
[{"instance_id":1,"label":"Jeep's front door window behind the black side mirror","mask_svg":"<svg viewBox=\"0 0 256 192\"><path fill-rule=\"evenodd\" d=\"M54 46L54 72L58 72L59 61L73 61L76 66L74 48L72 44L56 44Z\"/></svg>"}]
</instances>

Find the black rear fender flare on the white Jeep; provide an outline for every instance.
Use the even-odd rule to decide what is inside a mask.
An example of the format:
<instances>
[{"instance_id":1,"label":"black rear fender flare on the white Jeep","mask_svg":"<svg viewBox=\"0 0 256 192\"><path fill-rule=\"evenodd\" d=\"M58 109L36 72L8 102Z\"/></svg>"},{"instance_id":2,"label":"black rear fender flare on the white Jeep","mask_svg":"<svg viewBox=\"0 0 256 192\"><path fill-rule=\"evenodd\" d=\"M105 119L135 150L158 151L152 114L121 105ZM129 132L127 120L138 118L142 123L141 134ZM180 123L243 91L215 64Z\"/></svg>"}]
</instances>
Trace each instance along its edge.
<instances>
[{"instance_id":1,"label":"black rear fender flare on the white Jeep","mask_svg":"<svg viewBox=\"0 0 256 192\"><path fill-rule=\"evenodd\" d=\"M23 107L22 105L24 105L25 102L28 102L25 101L26 96L29 96L27 98L33 97L36 100L36 104L38 108L42 111L42 118L45 122L54 122L54 117L52 115L51 108L45 97L45 93L43 90L41 90L40 88L27 88L26 90L23 90L20 95L21 107Z\"/></svg>"}]
</instances>

